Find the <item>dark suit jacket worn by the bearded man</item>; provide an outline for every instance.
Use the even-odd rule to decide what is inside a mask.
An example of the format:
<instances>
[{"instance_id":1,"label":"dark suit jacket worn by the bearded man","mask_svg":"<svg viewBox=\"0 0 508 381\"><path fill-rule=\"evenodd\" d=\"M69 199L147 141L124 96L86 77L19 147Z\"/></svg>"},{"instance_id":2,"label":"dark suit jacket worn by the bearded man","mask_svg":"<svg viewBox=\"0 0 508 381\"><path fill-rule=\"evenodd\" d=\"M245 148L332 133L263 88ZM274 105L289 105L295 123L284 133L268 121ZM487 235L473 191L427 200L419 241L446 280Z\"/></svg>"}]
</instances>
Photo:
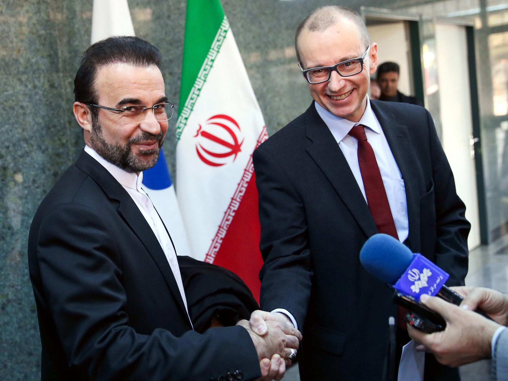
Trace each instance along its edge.
<instances>
[{"instance_id":1,"label":"dark suit jacket worn by the bearded man","mask_svg":"<svg viewBox=\"0 0 508 381\"><path fill-rule=\"evenodd\" d=\"M255 347L242 327L213 328L203 335L192 330L164 251L145 218L84 151L39 206L30 228L28 264L42 380L261 375Z\"/></svg>"}]
</instances>

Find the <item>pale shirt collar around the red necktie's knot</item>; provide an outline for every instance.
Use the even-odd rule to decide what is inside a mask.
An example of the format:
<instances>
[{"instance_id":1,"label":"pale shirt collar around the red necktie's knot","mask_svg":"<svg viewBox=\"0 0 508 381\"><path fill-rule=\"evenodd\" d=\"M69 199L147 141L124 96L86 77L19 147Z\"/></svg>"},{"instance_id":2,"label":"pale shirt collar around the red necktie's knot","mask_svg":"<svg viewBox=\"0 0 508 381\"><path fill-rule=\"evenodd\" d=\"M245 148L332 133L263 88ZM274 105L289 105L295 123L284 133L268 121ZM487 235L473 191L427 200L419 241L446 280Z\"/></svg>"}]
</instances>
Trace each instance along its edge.
<instances>
[{"instance_id":1,"label":"pale shirt collar around the red necktie's knot","mask_svg":"<svg viewBox=\"0 0 508 381\"><path fill-rule=\"evenodd\" d=\"M333 134L335 140L337 142L342 141L344 137L351 131L351 129L358 124L363 124L368 127L373 132L380 134L379 126L376 122L376 117L372 108L370 107L370 99L367 96L367 107L365 108L365 112L363 113L362 118L358 122L352 122L351 120L347 120L341 118L340 116L336 116L332 114L330 111L323 108L319 103L314 102L314 107L325 122L325 124L330 129L330 132Z\"/></svg>"}]
</instances>

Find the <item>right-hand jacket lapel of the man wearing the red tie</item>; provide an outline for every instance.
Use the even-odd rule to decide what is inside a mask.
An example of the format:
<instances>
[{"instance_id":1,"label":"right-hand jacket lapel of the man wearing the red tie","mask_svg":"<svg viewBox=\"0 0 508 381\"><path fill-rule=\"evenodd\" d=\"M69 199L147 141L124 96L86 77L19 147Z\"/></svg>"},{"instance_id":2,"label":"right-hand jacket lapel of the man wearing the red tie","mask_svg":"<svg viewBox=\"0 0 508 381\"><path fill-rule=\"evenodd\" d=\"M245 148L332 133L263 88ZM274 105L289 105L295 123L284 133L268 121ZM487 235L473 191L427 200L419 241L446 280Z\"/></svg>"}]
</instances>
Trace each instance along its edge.
<instances>
[{"instance_id":1,"label":"right-hand jacket lapel of the man wearing the red tie","mask_svg":"<svg viewBox=\"0 0 508 381\"><path fill-rule=\"evenodd\" d=\"M418 160L412 151L407 126L394 122L395 117L383 109L382 102L371 101L370 106L385 133L395 162L399 167L406 191L409 244L420 250L420 192L418 183Z\"/></svg>"}]
</instances>

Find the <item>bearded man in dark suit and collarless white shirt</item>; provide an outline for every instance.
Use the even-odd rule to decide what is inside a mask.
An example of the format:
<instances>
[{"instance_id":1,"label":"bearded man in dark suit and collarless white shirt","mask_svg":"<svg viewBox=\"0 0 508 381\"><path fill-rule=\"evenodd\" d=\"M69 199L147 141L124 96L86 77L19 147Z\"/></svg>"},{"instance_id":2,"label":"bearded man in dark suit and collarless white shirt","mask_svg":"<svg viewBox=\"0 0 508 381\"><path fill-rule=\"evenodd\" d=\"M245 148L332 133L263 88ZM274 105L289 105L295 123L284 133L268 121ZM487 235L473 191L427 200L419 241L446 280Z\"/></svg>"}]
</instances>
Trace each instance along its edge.
<instances>
[{"instance_id":1,"label":"bearded man in dark suit and collarless white shirt","mask_svg":"<svg viewBox=\"0 0 508 381\"><path fill-rule=\"evenodd\" d=\"M298 347L300 333L273 320L263 336L247 321L193 330L171 237L141 188L174 107L160 63L146 41L112 37L76 74L85 148L28 241L43 380L278 379Z\"/></svg>"}]
</instances>

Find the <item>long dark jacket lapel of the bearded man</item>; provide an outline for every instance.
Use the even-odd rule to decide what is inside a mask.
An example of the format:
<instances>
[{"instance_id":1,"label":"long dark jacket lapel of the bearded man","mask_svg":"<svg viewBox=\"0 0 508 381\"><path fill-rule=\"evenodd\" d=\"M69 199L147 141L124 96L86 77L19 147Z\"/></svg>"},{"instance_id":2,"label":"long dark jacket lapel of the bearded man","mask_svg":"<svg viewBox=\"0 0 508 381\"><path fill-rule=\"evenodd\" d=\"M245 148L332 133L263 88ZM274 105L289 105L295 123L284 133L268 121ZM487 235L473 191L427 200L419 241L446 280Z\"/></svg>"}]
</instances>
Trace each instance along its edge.
<instances>
[{"instance_id":1,"label":"long dark jacket lapel of the bearded man","mask_svg":"<svg viewBox=\"0 0 508 381\"><path fill-rule=\"evenodd\" d=\"M173 296L182 308L183 313L188 316L187 311L185 310L185 305L183 304L180 290L178 289L173 271L171 270L171 266L168 263L164 250L134 200L131 196L129 196L120 183L86 152L81 152L81 155L76 161L76 166L90 175L90 177L92 177L103 188L104 192L110 199L118 200L120 202L118 214L120 214L146 247L149 255L156 263L158 269L161 271L164 279L166 280Z\"/></svg>"}]
</instances>

